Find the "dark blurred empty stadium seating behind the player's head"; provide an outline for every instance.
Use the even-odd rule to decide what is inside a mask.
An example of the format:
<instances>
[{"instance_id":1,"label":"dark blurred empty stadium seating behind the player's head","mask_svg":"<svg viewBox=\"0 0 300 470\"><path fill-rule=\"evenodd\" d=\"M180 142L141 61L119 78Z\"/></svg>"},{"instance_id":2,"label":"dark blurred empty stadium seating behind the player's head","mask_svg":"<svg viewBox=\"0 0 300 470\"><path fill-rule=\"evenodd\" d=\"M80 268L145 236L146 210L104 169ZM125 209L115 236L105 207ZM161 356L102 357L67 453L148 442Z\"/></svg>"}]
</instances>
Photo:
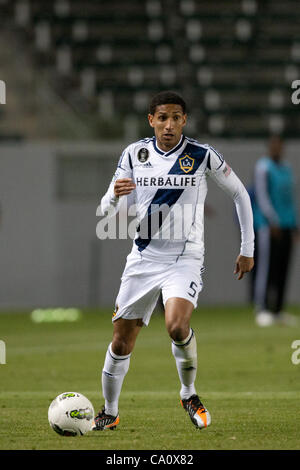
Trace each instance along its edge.
<instances>
[{"instance_id":1,"label":"dark blurred empty stadium seating behind the player's head","mask_svg":"<svg viewBox=\"0 0 300 470\"><path fill-rule=\"evenodd\" d=\"M299 135L297 0L1 0L0 13L99 137L132 114L148 132L161 89L187 98L195 136Z\"/></svg>"}]
</instances>

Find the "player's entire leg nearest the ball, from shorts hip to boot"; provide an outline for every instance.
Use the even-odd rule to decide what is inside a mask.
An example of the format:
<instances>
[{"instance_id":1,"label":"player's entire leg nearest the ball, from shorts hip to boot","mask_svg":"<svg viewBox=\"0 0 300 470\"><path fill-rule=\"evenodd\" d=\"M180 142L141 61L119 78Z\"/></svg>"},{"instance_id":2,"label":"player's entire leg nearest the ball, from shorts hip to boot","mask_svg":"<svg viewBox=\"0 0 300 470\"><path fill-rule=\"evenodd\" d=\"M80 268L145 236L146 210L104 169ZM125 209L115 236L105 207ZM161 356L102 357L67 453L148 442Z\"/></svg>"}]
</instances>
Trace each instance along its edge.
<instances>
[{"instance_id":1,"label":"player's entire leg nearest the ball, from shorts hip to boot","mask_svg":"<svg viewBox=\"0 0 300 470\"><path fill-rule=\"evenodd\" d=\"M140 258L127 261L113 315L113 338L102 370L105 406L97 415L97 430L114 428L119 422L118 402L130 356L143 325L148 325L160 288L155 275L148 274L148 263Z\"/></svg>"}]
</instances>

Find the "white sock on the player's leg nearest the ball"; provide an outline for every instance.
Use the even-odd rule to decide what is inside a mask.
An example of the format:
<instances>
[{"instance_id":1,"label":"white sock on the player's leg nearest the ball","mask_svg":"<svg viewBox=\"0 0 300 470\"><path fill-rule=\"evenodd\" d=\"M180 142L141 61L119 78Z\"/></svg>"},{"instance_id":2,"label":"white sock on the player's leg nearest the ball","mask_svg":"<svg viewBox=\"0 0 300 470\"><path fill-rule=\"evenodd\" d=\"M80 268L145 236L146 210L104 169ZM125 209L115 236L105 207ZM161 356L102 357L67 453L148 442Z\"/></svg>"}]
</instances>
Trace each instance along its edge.
<instances>
[{"instance_id":1,"label":"white sock on the player's leg nearest the ball","mask_svg":"<svg viewBox=\"0 0 300 470\"><path fill-rule=\"evenodd\" d=\"M117 356L108 346L102 370L102 393L105 399L105 413L117 416L119 409L119 396L123 380L128 372L130 354Z\"/></svg>"}]
</instances>

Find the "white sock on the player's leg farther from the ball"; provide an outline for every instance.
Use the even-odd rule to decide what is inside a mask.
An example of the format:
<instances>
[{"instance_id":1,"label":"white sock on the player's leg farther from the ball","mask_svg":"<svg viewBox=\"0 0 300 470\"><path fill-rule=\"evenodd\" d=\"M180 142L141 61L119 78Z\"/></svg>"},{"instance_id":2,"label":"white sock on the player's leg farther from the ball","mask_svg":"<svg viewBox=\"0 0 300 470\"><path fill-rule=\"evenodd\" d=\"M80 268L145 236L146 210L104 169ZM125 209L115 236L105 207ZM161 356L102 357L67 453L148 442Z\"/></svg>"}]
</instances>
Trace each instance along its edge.
<instances>
[{"instance_id":1,"label":"white sock on the player's leg farther from the ball","mask_svg":"<svg viewBox=\"0 0 300 470\"><path fill-rule=\"evenodd\" d=\"M181 382L180 398L186 400L196 394L197 342L192 329L184 341L172 341L172 353Z\"/></svg>"}]
</instances>

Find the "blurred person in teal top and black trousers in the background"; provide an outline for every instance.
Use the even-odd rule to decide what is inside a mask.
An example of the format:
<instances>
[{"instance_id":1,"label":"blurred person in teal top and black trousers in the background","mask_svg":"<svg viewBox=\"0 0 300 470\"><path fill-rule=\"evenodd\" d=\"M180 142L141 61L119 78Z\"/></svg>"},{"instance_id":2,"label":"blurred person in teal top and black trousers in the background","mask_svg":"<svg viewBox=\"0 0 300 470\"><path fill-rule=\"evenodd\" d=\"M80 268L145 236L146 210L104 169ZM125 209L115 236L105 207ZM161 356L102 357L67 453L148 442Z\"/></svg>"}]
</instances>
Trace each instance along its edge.
<instances>
[{"instance_id":1,"label":"blurred person in teal top and black trousers in the background","mask_svg":"<svg viewBox=\"0 0 300 470\"><path fill-rule=\"evenodd\" d=\"M296 325L283 312L293 242L298 232L294 176L283 160L280 136L269 140L269 154L255 165L253 214L256 231L253 300L259 326Z\"/></svg>"}]
</instances>

